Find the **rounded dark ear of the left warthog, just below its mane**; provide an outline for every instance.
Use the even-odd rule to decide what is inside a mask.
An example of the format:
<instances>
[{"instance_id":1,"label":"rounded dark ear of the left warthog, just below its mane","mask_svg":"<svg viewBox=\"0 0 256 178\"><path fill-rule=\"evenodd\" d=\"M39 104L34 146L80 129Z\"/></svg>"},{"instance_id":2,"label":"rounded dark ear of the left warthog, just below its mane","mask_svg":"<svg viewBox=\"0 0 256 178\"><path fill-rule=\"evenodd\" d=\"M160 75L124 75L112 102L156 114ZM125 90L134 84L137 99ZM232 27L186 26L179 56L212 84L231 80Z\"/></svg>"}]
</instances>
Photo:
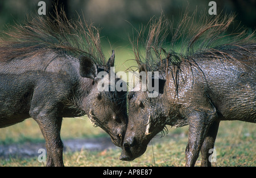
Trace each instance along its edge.
<instances>
[{"instance_id":1,"label":"rounded dark ear of the left warthog, just below its mane","mask_svg":"<svg viewBox=\"0 0 256 178\"><path fill-rule=\"evenodd\" d=\"M86 77L94 80L97 77L97 67L95 63L87 56L80 56L79 62L81 77Z\"/></svg>"}]
</instances>

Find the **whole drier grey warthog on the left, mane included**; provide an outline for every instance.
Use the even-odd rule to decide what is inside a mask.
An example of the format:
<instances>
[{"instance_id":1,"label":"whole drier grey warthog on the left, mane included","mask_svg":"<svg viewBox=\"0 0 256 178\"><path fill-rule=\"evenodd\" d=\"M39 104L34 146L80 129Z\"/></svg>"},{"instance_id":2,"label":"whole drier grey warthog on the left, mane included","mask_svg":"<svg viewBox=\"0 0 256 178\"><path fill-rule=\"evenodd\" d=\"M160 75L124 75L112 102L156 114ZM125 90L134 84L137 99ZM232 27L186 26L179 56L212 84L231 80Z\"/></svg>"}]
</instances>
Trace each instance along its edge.
<instances>
[{"instance_id":1,"label":"whole drier grey warthog on the left, mane included","mask_svg":"<svg viewBox=\"0 0 256 178\"><path fill-rule=\"evenodd\" d=\"M46 139L47 166L63 166L63 117L86 114L117 146L127 126L126 92L110 91L110 84L98 90L101 80L110 83L114 51L107 61L96 27L56 15L27 20L0 41L0 128L34 118Z\"/></svg>"}]
</instances>

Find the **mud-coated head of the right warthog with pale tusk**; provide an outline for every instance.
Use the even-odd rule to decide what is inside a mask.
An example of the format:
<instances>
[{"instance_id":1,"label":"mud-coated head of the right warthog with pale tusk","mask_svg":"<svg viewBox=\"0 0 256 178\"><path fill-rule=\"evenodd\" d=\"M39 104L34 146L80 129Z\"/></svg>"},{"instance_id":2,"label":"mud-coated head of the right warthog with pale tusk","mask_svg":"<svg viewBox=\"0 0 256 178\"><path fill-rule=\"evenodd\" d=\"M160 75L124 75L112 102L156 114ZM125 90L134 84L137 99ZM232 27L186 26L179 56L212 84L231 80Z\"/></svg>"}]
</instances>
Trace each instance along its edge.
<instances>
[{"instance_id":1,"label":"mud-coated head of the right warthog with pale tusk","mask_svg":"<svg viewBox=\"0 0 256 178\"><path fill-rule=\"evenodd\" d=\"M144 68L140 70L145 72ZM142 77L143 78L143 77ZM143 84L144 83L144 84ZM154 86L155 91L146 86ZM147 144L164 129L164 120L168 116L167 99L164 99L165 80L148 75L146 82L142 79L129 92L129 122L123 141L121 160L131 161L141 156L147 149ZM143 88L147 88L143 91Z\"/></svg>"}]
</instances>

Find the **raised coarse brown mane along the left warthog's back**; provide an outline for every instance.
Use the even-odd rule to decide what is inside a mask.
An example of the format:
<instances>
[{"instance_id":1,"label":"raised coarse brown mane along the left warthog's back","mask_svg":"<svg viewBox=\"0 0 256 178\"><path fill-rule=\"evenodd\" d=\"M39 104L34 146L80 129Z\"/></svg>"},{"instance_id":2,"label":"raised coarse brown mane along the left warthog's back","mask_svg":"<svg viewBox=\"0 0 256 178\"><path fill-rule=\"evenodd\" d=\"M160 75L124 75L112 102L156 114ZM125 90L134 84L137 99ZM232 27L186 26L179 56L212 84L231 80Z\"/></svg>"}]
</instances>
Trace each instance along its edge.
<instances>
[{"instance_id":1,"label":"raised coarse brown mane along the left warthog's back","mask_svg":"<svg viewBox=\"0 0 256 178\"><path fill-rule=\"evenodd\" d=\"M0 61L36 56L52 49L73 57L89 56L105 69L106 60L100 45L100 29L88 24L84 16L69 20L63 11L51 15L27 15L23 24L9 26L0 39Z\"/></svg>"}]
</instances>

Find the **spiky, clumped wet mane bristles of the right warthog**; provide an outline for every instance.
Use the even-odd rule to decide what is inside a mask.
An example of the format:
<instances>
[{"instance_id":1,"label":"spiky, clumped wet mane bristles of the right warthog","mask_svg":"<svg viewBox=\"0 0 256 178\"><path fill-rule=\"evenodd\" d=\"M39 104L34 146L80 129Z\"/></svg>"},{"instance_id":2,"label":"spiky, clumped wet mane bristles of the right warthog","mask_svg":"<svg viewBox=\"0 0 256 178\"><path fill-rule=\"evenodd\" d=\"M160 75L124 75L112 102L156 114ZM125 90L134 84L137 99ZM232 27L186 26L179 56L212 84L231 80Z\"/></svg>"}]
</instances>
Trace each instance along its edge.
<instances>
[{"instance_id":1,"label":"spiky, clumped wet mane bristles of the right warthog","mask_svg":"<svg viewBox=\"0 0 256 178\"><path fill-rule=\"evenodd\" d=\"M138 34L130 38L130 42L139 68L144 65L147 71L159 71L159 77L166 79L170 66L176 66L175 73L179 73L182 61L195 63L193 57L199 55L229 60L238 60L230 52L255 56L251 52L256 48L255 31L250 35L246 29L226 34L234 21L234 14L210 16L202 13L200 20L196 20L196 14L194 11L189 16L185 12L174 27L174 23L162 12L159 19L152 18L148 23L146 37L144 31L147 27L136 30ZM143 46L145 53L140 51Z\"/></svg>"}]
</instances>

